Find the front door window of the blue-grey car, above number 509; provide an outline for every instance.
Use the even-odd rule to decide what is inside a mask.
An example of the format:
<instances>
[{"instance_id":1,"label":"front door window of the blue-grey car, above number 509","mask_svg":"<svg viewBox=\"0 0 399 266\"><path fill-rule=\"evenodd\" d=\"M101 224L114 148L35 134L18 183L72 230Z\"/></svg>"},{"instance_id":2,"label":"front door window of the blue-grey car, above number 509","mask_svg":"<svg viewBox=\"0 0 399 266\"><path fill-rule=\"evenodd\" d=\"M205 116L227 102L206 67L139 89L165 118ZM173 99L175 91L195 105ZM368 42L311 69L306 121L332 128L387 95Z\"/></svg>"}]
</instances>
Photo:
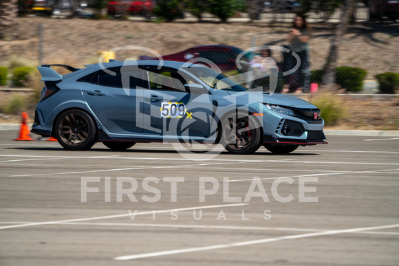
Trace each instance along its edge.
<instances>
[{"instance_id":1,"label":"front door window of the blue-grey car, above number 509","mask_svg":"<svg viewBox=\"0 0 399 266\"><path fill-rule=\"evenodd\" d=\"M186 92L182 76L169 69L149 69L148 74L150 89Z\"/></svg>"}]
</instances>

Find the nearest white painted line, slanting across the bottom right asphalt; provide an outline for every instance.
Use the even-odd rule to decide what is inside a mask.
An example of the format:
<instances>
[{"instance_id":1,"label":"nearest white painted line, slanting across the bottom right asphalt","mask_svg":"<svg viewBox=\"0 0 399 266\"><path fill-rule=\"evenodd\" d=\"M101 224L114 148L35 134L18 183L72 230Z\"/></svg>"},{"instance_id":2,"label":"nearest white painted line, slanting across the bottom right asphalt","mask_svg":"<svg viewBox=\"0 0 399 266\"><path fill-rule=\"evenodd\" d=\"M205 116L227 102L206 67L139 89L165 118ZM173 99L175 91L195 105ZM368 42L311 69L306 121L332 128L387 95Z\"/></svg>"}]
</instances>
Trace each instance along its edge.
<instances>
[{"instance_id":1,"label":"nearest white painted line, slanting across the bottom right asphalt","mask_svg":"<svg viewBox=\"0 0 399 266\"><path fill-rule=\"evenodd\" d=\"M254 241L244 241L244 242L237 242L237 243L231 243L231 244L210 245L210 246L206 246L206 247L191 247L191 248L186 248L186 249L181 249L181 250L167 250L167 251L163 251L163 252L151 252L151 253L144 253L144 254L117 256L114 258L114 260L115 261L128 261L128 260L134 260L137 258L151 258L151 257L155 257L155 256L166 256L166 255L182 254L182 253L188 253L188 252L219 250L219 249L228 248L228 247L241 247L241 246L245 246L245 245L263 244L263 243L270 243L270 242L275 242L275 241L284 241L284 240L291 240L291 239L305 239L305 238L314 237L314 236L327 236L327 235L332 235L332 234L345 234L345 233L353 233L353 232L361 232L361 231L398 228L398 227L399 227L399 224L393 224L393 225L371 226L371 227L367 227L367 228L350 228L350 229L344 229L344 230L312 232L312 233L308 233L308 234L294 234L294 235L290 235L290 236L279 236L279 237L274 237L274 238L270 238L270 239L258 239L258 240L254 240Z\"/></svg>"}]
</instances>

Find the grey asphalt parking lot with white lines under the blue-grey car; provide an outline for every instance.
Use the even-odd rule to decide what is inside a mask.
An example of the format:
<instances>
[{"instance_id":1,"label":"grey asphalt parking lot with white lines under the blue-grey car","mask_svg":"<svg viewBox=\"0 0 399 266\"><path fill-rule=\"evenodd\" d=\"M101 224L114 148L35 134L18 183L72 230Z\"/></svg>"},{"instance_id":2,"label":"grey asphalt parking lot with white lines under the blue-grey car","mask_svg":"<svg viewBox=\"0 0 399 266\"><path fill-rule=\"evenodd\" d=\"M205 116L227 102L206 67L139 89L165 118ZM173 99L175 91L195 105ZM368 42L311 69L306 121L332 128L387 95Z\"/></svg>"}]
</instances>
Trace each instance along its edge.
<instances>
[{"instance_id":1,"label":"grey asphalt parking lot with white lines under the blue-grey car","mask_svg":"<svg viewBox=\"0 0 399 266\"><path fill-rule=\"evenodd\" d=\"M399 262L399 137L289 155L16 137L0 131L0 265Z\"/></svg>"}]
</instances>

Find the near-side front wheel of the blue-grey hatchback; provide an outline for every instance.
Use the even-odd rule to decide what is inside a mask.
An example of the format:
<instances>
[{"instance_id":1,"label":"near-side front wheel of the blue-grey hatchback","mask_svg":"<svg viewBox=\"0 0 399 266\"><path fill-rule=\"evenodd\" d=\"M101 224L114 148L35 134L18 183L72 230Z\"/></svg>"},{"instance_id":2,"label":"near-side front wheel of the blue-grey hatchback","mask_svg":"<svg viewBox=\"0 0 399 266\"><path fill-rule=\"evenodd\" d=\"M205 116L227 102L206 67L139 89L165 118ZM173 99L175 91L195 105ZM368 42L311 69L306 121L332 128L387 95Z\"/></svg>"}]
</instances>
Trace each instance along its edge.
<instances>
[{"instance_id":1,"label":"near-side front wheel of the blue-grey hatchback","mask_svg":"<svg viewBox=\"0 0 399 266\"><path fill-rule=\"evenodd\" d=\"M252 154L261 146L261 129L248 114L228 115L222 121L221 134L221 142L228 153Z\"/></svg>"}]
</instances>

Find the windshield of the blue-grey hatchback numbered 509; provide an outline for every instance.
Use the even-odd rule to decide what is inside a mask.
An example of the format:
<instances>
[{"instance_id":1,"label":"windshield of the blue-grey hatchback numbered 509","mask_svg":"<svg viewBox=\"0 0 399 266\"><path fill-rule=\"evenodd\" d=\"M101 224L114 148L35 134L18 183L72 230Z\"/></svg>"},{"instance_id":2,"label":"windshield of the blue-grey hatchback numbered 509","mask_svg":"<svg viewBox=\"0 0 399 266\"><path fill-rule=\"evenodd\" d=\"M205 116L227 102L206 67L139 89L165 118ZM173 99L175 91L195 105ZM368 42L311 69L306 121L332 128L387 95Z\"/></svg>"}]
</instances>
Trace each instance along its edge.
<instances>
[{"instance_id":1,"label":"windshield of the blue-grey hatchback numbered 509","mask_svg":"<svg viewBox=\"0 0 399 266\"><path fill-rule=\"evenodd\" d=\"M184 69L205 82L206 85L213 89L221 89L224 91L248 90L248 88L239 85L230 78L224 76L223 74L219 74L216 71L209 69L208 67L190 66L184 67Z\"/></svg>"}]
</instances>

